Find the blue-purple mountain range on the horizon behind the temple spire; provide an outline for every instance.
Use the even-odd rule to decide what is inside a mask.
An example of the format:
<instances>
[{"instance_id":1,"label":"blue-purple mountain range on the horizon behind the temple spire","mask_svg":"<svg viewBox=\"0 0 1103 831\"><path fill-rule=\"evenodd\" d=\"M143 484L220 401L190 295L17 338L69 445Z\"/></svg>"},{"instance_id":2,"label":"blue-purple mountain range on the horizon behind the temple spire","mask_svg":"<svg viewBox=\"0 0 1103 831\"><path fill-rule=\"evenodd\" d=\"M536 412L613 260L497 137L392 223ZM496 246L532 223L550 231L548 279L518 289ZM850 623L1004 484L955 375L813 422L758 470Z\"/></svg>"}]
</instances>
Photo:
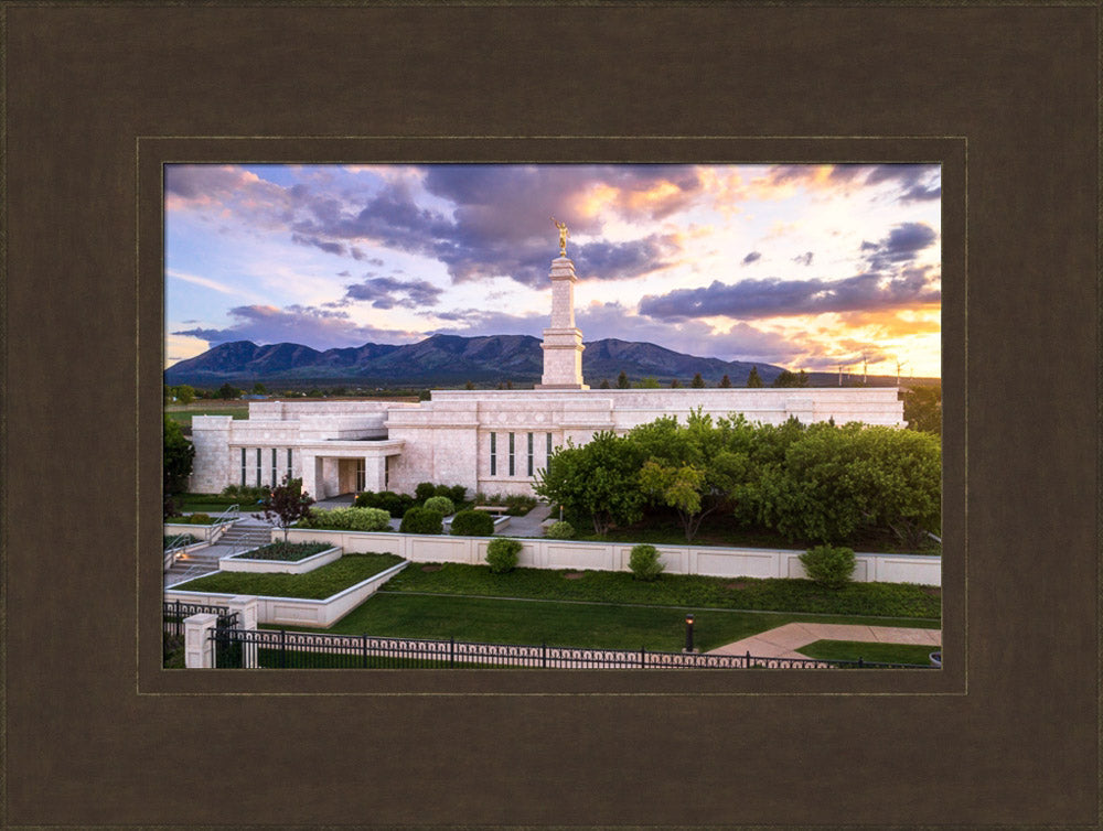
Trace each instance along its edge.
<instances>
[{"instance_id":1,"label":"blue-purple mountain range on the horizon behind the temple spire","mask_svg":"<svg viewBox=\"0 0 1103 831\"><path fill-rule=\"evenodd\" d=\"M749 364L683 355L649 343L606 338L586 344L582 376L591 387L603 379L617 384L623 371L631 380L654 378L683 385L700 373L710 387L727 375L732 386L747 385L752 367L770 384L783 371L771 364ZM540 339L529 335L432 335L416 344L395 346L364 344L319 352L301 344L257 346L251 341L218 344L202 355L181 360L164 370L170 386L217 387L278 382L357 384L362 386L480 386L511 381L515 386L538 384L544 371Z\"/></svg>"}]
</instances>

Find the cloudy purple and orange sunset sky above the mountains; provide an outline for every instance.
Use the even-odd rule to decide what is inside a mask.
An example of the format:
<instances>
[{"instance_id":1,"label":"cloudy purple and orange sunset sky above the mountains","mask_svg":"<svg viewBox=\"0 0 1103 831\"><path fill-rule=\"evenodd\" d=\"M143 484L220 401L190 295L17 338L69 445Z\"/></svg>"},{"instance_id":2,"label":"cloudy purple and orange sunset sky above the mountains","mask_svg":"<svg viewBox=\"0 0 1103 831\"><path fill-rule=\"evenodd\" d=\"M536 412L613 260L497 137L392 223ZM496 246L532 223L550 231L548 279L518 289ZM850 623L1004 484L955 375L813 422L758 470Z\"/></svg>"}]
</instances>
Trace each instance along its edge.
<instances>
[{"instance_id":1,"label":"cloudy purple and orange sunset sky above the mountains","mask_svg":"<svg viewBox=\"0 0 1103 831\"><path fill-rule=\"evenodd\" d=\"M938 165L167 165L165 365L540 336L570 228L583 341L940 375Z\"/></svg>"}]
</instances>

